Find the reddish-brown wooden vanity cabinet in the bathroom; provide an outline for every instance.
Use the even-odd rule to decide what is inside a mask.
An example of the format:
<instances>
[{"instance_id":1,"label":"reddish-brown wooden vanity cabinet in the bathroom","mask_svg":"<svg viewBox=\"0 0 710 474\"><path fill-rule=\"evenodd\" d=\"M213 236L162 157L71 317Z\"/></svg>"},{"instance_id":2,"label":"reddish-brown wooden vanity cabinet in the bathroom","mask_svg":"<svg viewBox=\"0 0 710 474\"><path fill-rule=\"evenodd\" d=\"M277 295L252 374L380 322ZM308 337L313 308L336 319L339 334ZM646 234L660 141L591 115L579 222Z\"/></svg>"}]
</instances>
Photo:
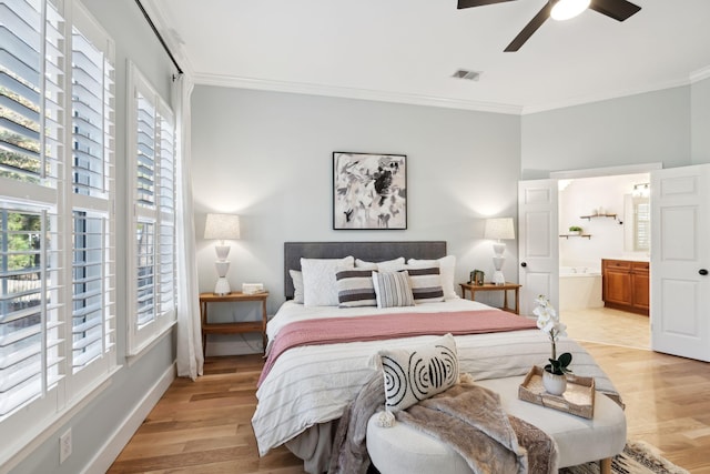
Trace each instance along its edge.
<instances>
[{"instance_id":1,"label":"reddish-brown wooden vanity cabinet in the bathroom","mask_svg":"<svg viewBox=\"0 0 710 474\"><path fill-rule=\"evenodd\" d=\"M632 313L649 314L649 263L602 260L604 305Z\"/></svg>"}]
</instances>

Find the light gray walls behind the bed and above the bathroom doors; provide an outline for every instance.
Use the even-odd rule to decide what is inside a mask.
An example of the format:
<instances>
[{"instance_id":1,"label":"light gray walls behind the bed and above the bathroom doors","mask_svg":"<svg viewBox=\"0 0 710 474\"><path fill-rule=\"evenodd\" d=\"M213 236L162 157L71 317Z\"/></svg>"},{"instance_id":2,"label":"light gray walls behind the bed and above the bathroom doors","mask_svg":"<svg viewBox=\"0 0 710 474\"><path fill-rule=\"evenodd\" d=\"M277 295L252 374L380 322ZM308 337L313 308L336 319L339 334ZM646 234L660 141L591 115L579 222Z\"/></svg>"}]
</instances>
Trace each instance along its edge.
<instances>
[{"instance_id":1,"label":"light gray walls behind the bed and above the bathroom doors","mask_svg":"<svg viewBox=\"0 0 710 474\"><path fill-rule=\"evenodd\" d=\"M207 85L195 88L192 102L201 291L216 278L213 243L201 240L204 215L237 213L242 240L232 244L229 279L233 289L264 283L272 314L283 301L284 241L445 239L464 281L474 268L493 272L481 219L517 214L518 179L710 162L710 80L521 118ZM332 230L333 151L407 154L407 231ZM517 281L514 242L507 256L506 278ZM258 317L255 309L211 314ZM233 336L209 341L207 354L221 353L221 342L234 350ZM247 345L257 350L257 337Z\"/></svg>"}]
</instances>

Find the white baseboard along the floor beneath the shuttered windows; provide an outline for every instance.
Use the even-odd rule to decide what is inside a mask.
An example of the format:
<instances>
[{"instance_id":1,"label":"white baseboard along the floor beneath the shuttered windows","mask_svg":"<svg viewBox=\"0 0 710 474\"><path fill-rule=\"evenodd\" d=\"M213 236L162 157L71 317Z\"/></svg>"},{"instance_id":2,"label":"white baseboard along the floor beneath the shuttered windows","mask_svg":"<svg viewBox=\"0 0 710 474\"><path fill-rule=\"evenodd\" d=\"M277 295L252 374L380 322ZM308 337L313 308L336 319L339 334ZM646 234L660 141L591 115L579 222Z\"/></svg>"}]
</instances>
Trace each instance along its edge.
<instances>
[{"instance_id":1,"label":"white baseboard along the floor beneath the shuttered windows","mask_svg":"<svg viewBox=\"0 0 710 474\"><path fill-rule=\"evenodd\" d=\"M95 456L87 464L83 470L85 474L105 473L111 467L111 464L121 454L121 450L131 440L131 436L141 426L148 414L158 404L158 401L165 393L170 384L175 380L178 373L176 365L171 364L163 375L158 379L153 386L145 393L141 402L135 405L132 412L130 412L123 423L121 423L114 432L109 436L103 446L99 450Z\"/></svg>"}]
</instances>

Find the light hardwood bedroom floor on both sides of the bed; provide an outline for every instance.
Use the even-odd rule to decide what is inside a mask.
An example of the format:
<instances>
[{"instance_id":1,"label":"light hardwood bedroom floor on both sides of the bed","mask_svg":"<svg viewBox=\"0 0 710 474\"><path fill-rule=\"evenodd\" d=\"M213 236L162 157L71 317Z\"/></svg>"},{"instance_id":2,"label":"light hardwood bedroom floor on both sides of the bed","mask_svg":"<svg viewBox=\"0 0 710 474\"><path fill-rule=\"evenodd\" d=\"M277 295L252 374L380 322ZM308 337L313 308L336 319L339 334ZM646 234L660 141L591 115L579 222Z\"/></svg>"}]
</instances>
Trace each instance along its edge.
<instances>
[{"instance_id":1,"label":"light hardwood bedroom floor on both sides of the bed","mask_svg":"<svg viewBox=\"0 0 710 474\"><path fill-rule=\"evenodd\" d=\"M611 332L629 331L617 314L600 313ZM589 315L572 319L566 321L570 335L580 331L578 340L597 339L584 329ZM626 342L582 345L626 402L628 438L657 446L693 474L710 474L710 364ZM300 461L283 447L258 457L250 420L261 367L258 355L209 357L204 376L171 385L109 472L302 473Z\"/></svg>"}]
</instances>

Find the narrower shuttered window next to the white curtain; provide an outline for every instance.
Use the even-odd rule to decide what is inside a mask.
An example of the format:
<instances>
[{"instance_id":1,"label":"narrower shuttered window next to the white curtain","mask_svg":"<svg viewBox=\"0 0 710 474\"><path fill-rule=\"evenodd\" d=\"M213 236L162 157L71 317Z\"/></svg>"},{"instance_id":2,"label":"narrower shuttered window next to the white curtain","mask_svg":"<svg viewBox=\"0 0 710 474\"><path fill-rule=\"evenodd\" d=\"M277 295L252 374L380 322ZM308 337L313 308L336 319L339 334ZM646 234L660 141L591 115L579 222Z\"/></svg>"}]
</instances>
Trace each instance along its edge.
<instances>
[{"instance_id":1,"label":"narrower shuttered window next to the white curtain","mask_svg":"<svg viewBox=\"0 0 710 474\"><path fill-rule=\"evenodd\" d=\"M129 83L134 201L129 352L136 354L175 322L175 121L133 64Z\"/></svg>"}]
</instances>

